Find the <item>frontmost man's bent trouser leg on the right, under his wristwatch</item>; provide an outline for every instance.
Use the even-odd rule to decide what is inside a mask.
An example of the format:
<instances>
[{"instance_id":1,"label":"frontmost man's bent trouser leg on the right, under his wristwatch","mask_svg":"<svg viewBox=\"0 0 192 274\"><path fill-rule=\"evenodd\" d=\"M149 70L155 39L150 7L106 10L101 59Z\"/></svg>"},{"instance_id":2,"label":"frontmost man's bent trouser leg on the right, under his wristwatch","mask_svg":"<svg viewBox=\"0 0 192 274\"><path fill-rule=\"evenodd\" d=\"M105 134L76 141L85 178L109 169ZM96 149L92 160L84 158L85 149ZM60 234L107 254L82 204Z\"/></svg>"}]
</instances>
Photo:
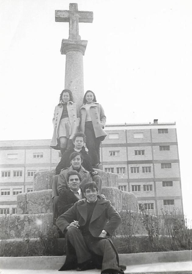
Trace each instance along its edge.
<instances>
[{"instance_id":1,"label":"frontmost man's bent trouser leg on the right, under his wristwatch","mask_svg":"<svg viewBox=\"0 0 192 274\"><path fill-rule=\"evenodd\" d=\"M98 241L97 239L93 238L90 240L90 238L86 237L85 241L89 250L93 251L97 255L103 256L102 270L120 270L117 262L116 252L108 239L102 239Z\"/></svg>"}]
</instances>

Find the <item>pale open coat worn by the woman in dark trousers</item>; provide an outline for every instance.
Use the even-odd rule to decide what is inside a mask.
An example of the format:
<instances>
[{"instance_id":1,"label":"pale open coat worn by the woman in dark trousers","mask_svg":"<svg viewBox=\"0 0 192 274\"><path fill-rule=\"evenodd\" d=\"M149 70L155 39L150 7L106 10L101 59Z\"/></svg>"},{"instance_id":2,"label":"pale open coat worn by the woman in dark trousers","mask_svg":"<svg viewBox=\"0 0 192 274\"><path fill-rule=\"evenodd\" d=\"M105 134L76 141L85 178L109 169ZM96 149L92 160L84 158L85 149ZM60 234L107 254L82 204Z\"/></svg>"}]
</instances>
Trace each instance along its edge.
<instances>
[{"instance_id":1,"label":"pale open coat worn by the woman in dark trousers","mask_svg":"<svg viewBox=\"0 0 192 274\"><path fill-rule=\"evenodd\" d=\"M106 116L103 110L103 107L98 103L93 103L90 106L90 116L93 123L93 128L95 132L95 137L103 136L103 140L105 139L106 132L103 130L106 124ZM86 108L85 104L80 107L80 114L81 114L81 123L80 129L82 132L85 132L85 120L86 120Z\"/></svg>"}]
</instances>

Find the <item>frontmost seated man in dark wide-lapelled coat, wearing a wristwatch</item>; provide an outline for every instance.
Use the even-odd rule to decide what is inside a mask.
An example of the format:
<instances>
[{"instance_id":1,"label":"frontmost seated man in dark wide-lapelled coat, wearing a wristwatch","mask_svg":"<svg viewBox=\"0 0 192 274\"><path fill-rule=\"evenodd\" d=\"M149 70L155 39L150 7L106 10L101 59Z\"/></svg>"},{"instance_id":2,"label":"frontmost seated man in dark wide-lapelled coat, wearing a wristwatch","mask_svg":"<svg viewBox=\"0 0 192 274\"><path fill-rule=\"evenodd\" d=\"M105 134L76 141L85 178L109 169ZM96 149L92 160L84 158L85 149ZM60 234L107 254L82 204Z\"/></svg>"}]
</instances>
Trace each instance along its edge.
<instances>
[{"instance_id":1,"label":"frontmost seated man in dark wide-lapelled coat, wearing a wristwatch","mask_svg":"<svg viewBox=\"0 0 192 274\"><path fill-rule=\"evenodd\" d=\"M85 271L98 268L101 273L124 273L109 237L121 222L109 200L97 196L95 182L84 185L86 198L76 202L58 217L58 228L66 233L66 259L60 271Z\"/></svg>"}]
</instances>

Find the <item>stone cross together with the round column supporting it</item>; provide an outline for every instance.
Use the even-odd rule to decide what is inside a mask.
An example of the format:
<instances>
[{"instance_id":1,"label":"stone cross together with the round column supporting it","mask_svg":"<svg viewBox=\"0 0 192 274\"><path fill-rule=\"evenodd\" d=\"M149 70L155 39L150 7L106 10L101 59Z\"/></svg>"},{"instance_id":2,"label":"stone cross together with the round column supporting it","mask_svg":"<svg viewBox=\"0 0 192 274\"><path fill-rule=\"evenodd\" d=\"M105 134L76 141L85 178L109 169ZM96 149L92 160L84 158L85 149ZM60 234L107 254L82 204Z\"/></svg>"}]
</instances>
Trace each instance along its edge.
<instances>
[{"instance_id":1,"label":"stone cross together with the round column supporting it","mask_svg":"<svg viewBox=\"0 0 192 274\"><path fill-rule=\"evenodd\" d=\"M61 43L61 54L66 55L65 61L65 89L70 89L75 102L82 104L84 96L83 55L87 40L81 40L79 23L92 23L93 12L78 11L77 3L70 3L69 10L56 10L56 22L69 23L69 38Z\"/></svg>"}]
</instances>

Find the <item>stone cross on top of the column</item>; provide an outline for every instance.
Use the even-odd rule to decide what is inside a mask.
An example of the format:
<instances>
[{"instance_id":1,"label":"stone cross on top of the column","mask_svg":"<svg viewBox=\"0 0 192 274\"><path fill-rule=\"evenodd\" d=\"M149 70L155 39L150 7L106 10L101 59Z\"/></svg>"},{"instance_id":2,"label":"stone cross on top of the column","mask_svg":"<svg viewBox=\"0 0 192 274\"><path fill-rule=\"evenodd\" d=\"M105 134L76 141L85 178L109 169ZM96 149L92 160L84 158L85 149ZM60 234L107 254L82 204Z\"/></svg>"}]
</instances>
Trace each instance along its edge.
<instances>
[{"instance_id":1,"label":"stone cross on top of the column","mask_svg":"<svg viewBox=\"0 0 192 274\"><path fill-rule=\"evenodd\" d=\"M78 11L77 3L70 3L69 10L56 10L56 22L69 22L68 40L81 40L79 36L79 23L92 23L93 12Z\"/></svg>"}]
</instances>

